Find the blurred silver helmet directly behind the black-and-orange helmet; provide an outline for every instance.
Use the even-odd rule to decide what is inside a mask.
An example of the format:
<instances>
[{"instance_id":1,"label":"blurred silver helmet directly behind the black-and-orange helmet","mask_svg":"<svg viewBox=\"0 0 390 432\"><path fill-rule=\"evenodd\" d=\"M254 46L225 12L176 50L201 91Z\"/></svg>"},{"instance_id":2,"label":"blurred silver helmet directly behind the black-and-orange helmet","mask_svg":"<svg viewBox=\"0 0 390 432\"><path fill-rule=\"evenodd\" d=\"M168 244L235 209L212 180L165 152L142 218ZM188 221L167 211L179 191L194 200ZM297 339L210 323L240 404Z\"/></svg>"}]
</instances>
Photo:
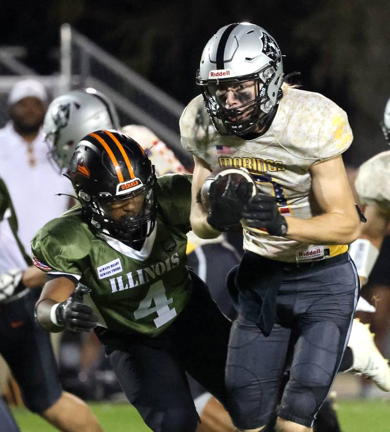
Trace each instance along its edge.
<instances>
[{"instance_id":1,"label":"blurred silver helmet directly behind the black-and-orange helmet","mask_svg":"<svg viewBox=\"0 0 390 432\"><path fill-rule=\"evenodd\" d=\"M66 173L80 139L98 129L119 129L114 104L95 89L74 90L55 98L43 121L48 158L59 174Z\"/></svg>"}]
</instances>

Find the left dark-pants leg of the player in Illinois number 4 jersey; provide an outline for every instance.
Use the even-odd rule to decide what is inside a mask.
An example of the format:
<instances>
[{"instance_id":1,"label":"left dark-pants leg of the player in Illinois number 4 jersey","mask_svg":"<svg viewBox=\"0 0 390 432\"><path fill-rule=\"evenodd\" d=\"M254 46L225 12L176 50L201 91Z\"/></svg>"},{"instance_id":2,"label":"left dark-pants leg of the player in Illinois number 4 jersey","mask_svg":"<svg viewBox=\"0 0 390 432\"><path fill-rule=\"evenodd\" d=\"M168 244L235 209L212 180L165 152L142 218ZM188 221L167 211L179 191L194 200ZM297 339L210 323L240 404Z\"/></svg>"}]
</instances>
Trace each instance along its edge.
<instances>
[{"instance_id":1,"label":"left dark-pants leg of the player in Illinois number 4 jersey","mask_svg":"<svg viewBox=\"0 0 390 432\"><path fill-rule=\"evenodd\" d=\"M154 432L195 432L199 417L184 370L171 353L144 341L109 354L127 399Z\"/></svg>"}]
</instances>

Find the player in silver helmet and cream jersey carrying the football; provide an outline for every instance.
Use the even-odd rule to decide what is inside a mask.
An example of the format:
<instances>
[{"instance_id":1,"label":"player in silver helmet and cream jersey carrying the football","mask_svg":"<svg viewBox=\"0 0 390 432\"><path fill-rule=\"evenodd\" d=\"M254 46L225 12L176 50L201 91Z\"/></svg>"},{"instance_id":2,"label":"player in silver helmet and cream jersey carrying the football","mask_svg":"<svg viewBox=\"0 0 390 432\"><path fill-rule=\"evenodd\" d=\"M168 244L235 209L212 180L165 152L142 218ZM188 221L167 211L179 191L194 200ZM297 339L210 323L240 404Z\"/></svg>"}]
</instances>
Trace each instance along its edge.
<instances>
[{"instance_id":1,"label":"player in silver helmet and cream jersey carrying the football","mask_svg":"<svg viewBox=\"0 0 390 432\"><path fill-rule=\"evenodd\" d=\"M246 253L228 282L240 314L227 360L230 413L239 430L263 429L293 337L277 428L311 431L340 366L358 296L346 253L359 232L341 158L352 141L347 116L329 99L283 84L276 42L250 23L225 26L210 39L197 83L203 98L180 119L183 147L195 159L192 227L213 237L243 218ZM223 199L206 214L199 189L212 169L229 165L247 168L258 194L241 215Z\"/></svg>"}]
</instances>

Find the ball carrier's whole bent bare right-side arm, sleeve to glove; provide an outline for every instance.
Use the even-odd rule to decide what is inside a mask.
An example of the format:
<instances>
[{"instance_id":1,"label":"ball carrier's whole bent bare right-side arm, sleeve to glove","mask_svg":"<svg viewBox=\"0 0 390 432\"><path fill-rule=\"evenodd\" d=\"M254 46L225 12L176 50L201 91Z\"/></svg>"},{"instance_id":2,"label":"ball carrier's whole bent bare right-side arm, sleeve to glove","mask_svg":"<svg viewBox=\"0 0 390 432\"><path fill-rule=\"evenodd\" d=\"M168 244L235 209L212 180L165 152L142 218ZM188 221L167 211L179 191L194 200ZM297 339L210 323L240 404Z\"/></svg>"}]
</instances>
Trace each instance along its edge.
<instances>
[{"instance_id":1,"label":"ball carrier's whole bent bare right-side arm, sleeve to glove","mask_svg":"<svg viewBox=\"0 0 390 432\"><path fill-rule=\"evenodd\" d=\"M312 194L320 214L308 219L287 217L286 237L313 244L349 244L360 230L341 156L311 168Z\"/></svg>"}]
</instances>

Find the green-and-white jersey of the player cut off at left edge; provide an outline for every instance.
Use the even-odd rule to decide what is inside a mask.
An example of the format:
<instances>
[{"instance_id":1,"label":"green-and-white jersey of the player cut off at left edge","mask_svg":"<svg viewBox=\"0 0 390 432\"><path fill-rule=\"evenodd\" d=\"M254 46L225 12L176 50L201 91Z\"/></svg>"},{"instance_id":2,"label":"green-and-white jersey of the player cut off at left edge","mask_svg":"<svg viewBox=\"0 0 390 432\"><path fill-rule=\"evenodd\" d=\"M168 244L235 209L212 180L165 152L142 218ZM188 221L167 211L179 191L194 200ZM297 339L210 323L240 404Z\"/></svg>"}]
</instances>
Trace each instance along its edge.
<instances>
[{"instance_id":1,"label":"green-and-white jersey of the player cut off at left edge","mask_svg":"<svg viewBox=\"0 0 390 432\"><path fill-rule=\"evenodd\" d=\"M0 179L0 273L31 265L18 237L18 220L5 183Z\"/></svg>"}]
</instances>

